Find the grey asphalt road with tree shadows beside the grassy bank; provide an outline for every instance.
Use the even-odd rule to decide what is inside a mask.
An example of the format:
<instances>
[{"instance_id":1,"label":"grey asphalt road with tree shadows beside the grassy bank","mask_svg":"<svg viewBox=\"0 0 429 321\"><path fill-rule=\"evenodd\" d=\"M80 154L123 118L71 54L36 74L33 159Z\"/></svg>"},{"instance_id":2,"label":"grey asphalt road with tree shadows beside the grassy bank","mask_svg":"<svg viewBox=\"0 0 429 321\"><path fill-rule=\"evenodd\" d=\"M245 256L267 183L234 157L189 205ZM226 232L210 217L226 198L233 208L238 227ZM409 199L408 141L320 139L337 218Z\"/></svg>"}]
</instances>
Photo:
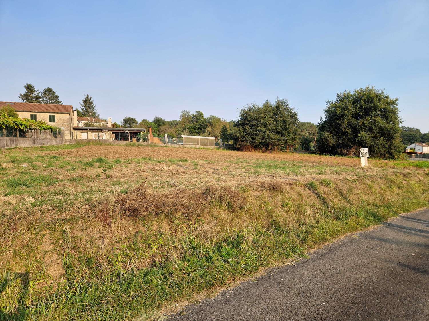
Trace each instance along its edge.
<instances>
[{"instance_id":1,"label":"grey asphalt road with tree shadows beside the grassy bank","mask_svg":"<svg viewBox=\"0 0 429 321\"><path fill-rule=\"evenodd\" d=\"M429 209L348 235L168 320L429 320Z\"/></svg>"}]
</instances>

